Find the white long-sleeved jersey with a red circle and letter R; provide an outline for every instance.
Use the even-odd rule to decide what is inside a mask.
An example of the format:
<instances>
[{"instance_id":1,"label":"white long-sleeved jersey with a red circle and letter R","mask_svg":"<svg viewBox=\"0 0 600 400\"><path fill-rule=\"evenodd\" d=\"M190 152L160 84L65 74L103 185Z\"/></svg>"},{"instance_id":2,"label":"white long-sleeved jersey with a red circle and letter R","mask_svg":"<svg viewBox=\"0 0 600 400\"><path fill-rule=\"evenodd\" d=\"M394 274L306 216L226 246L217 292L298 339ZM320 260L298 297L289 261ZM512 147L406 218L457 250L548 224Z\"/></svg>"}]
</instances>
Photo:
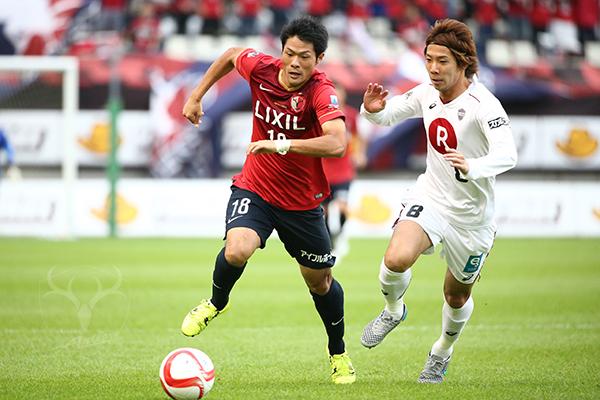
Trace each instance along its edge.
<instances>
[{"instance_id":1,"label":"white long-sleeved jersey with a red circle and letter R","mask_svg":"<svg viewBox=\"0 0 600 400\"><path fill-rule=\"evenodd\" d=\"M417 179L414 195L431 202L455 226L493 223L495 176L515 166L517 151L508 116L485 86L475 81L444 104L439 92L423 83L392 97L378 113L367 112L363 105L361 114L379 125L423 117L427 169ZM466 176L443 158L447 148L465 156L469 164Z\"/></svg>"}]
</instances>

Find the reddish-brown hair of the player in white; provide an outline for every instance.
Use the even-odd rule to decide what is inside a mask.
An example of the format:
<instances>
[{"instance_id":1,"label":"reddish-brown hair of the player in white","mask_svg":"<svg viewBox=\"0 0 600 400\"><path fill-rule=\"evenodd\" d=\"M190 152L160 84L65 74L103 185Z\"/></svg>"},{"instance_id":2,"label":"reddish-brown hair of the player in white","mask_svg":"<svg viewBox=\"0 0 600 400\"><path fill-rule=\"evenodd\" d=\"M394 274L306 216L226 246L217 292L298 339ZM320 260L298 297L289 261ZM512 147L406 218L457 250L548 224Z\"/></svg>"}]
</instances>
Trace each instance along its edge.
<instances>
[{"instance_id":1,"label":"reddish-brown hair of the player in white","mask_svg":"<svg viewBox=\"0 0 600 400\"><path fill-rule=\"evenodd\" d=\"M465 76L468 79L479 70L473 34L464 23L450 18L436 21L425 40L425 54L430 44L447 47L454 55L458 66L465 69Z\"/></svg>"}]
</instances>

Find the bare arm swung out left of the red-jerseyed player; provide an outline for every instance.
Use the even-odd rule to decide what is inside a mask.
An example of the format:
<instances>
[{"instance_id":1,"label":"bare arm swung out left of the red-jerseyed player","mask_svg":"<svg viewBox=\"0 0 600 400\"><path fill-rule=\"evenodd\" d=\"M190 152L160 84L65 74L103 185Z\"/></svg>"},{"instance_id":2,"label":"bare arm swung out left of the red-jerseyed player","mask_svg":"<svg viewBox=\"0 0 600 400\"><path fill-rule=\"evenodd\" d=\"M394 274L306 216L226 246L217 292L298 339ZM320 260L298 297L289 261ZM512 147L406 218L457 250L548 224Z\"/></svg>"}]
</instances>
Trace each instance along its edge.
<instances>
[{"instance_id":1,"label":"bare arm swung out left of the red-jerseyed player","mask_svg":"<svg viewBox=\"0 0 600 400\"><path fill-rule=\"evenodd\" d=\"M237 57L244 51L241 47L231 47L221 54L211 65L183 106L182 114L192 124L198 126L204 113L202 98L222 77L235 68Z\"/></svg>"}]
</instances>

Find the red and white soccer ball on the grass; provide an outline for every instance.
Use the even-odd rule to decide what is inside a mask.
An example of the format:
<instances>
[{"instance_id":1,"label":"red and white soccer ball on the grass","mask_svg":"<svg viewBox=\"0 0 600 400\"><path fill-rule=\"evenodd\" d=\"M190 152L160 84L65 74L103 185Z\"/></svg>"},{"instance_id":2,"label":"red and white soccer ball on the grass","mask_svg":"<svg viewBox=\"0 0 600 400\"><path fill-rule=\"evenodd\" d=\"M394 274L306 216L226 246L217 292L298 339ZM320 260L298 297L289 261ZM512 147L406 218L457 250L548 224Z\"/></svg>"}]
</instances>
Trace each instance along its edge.
<instances>
[{"instance_id":1,"label":"red and white soccer ball on the grass","mask_svg":"<svg viewBox=\"0 0 600 400\"><path fill-rule=\"evenodd\" d=\"M160 383L175 400L201 399L215 383L211 359L198 349L184 347L167 354L160 365Z\"/></svg>"}]
</instances>

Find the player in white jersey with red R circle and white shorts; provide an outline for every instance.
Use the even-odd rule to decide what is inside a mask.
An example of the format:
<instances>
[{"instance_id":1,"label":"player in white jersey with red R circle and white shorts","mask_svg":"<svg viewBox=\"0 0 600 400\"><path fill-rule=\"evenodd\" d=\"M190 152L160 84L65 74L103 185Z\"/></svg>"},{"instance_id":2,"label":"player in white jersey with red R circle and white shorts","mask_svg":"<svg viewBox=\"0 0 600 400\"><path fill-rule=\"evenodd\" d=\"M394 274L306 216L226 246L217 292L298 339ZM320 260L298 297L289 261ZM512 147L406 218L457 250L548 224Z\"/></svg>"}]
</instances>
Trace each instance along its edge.
<instances>
[{"instance_id":1,"label":"player in white jersey with red R circle and white shorts","mask_svg":"<svg viewBox=\"0 0 600 400\"><path fill-rule=\"evenodd\" d=\"M477 52L469 28L452 19L437 21L424 53L431 82L389 100L387 90L369 83L361 106L361 113L380 125L422 117L428 139L427 168L402 201L380 266L385 308L365 327L361 342L377 346L406 318L403 297L411 267L443 243L442 330L418 378L441 383L473 312L471 290L494 242L495 176L515 166L517 153L506 112L476 80Z\"/></svg>"}]
</instances>

